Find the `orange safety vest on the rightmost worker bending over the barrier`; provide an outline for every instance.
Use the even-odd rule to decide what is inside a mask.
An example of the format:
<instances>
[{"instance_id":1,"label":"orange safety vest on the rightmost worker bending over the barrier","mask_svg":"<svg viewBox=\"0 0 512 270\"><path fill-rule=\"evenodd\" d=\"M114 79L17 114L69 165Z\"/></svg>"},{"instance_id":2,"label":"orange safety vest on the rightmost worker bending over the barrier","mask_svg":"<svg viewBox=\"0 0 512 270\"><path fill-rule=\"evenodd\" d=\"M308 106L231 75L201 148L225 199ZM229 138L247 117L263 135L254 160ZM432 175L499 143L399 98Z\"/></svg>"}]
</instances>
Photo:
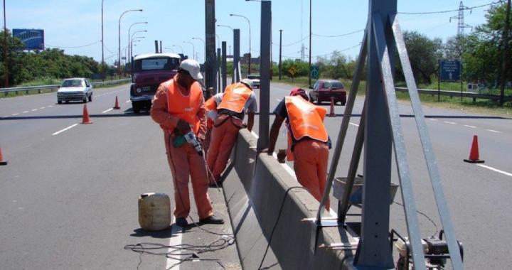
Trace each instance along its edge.
<instances>
[{"instance_id":1,"label":"orange safety vest on the rightmost worker bending over the barrier","mask_svg":"<svg viewBox=\"0 0 512 270\"><path fill-rule=\"evenodd\" d=\"M288 112L289 130L292 131L292 134L288 132L287 160L293 161L292 136L294 136L296 141L304 137L309 137L324 143L329 140L329 135L327 135L323 123L327 109L315 106L302 97L285 97L284 104Z\"/></svg>"}]
</instances>

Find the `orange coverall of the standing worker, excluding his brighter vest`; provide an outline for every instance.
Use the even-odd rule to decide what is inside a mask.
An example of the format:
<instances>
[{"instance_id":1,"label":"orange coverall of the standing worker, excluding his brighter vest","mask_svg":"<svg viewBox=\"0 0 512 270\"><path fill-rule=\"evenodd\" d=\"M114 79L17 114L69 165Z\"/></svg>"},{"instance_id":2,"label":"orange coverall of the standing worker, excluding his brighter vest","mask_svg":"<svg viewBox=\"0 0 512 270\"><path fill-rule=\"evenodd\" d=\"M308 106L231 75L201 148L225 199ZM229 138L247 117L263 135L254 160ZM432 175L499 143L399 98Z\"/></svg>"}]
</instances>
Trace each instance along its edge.
<instances>
[{"instance_id":1,"label":"orange coverall of the standing worker, excluding his brighter vest","mask_svg":"<svg viewBox=\"0 0 512 270\"><path fill-rule=\"evenodd\" d=\"M194 82L194 84L197 83L198 82ZM179 95L180 92L182 95L183 93L189 92L189 90L184 89L177 83L174 85L179 88L179 91L175 90L174 95ZM174 216L176 219L179 217L188 217L191 208L190 198L188 196L188 179L190 178L199 219L210 217L213 215L213 210L210 198L208 197L209 183L205 160L202 156L198 155L196 149L193 148L191 144L186 143L178 148L174 147L171 142L174 139L174 135L169 134L169 129L174 130L176 128L179 118L169 113L167 103L168 89L166 82L164 82L156 91L150 112L151 118L156 121L156 123L160 124L160 127L164 130L164 143L167 151L167 159L174 178L174 202L176 204ZM201 121L201 126L196 136L198 139L203 140L206 133L206 109L204 105L204 98L198 109L197 117Z\"/></svg>"}]
</instances>

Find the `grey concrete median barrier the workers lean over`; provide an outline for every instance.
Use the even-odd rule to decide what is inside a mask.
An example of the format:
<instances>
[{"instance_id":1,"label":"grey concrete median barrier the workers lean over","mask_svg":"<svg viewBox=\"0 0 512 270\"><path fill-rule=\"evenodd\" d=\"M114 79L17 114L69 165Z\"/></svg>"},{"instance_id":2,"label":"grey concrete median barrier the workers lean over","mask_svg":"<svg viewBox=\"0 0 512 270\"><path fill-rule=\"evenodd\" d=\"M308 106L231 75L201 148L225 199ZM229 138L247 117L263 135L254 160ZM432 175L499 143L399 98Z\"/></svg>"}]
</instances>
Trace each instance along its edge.
<instances>
[{"instance_id":1,"label":"grey concrete median barrier the workers lean over","mask_svg":"<svg viewBox=\"0 0 512 270\"><path fill-rule=\"evenodd\" d=\"M314 225L301 221L316 216L319 202L303 188L294 188L301 185L273 156L258 157L256 143L250 132L240 130L223 183L243 269L259 269L260 264L262 269L340 269L343 257L351 252L312 252ZM341 242L346 237L344 229L324 228L318 244Z\"/></svg>"}]
</instances>

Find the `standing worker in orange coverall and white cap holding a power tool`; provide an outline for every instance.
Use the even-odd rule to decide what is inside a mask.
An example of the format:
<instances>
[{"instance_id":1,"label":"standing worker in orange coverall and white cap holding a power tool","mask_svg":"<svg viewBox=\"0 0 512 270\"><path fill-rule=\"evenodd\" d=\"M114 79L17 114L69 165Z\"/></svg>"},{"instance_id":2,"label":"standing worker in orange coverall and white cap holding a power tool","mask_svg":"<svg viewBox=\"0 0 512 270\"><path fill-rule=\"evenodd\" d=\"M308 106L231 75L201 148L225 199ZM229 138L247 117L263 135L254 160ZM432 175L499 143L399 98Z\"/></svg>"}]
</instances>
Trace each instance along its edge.
<instances>
[{"instance_id":1,"label":"standing worker in orange coverall and white cap holding a power tool","mask_svg":"<svg viewBox=\"0 0 512 270\"><path fill-rule=\"evenodd\" d=\"M188 178L191 178L193 196L196 200L199 222L203 224L223 224L224 220L213 215L208 197L208 174L201 147L188 143L184 134L190 131L199 143L206 132L206 109L203 91L196 80L203 76L196 60L184 60L178 74L171 80L161 83L151 106L151 118L160 124L164 131L167 159L174 179L174 200L176 225L186 227L186 217L190 213ZM200 155L201 153L201 155Z\"/></svg>"}]
</instances>

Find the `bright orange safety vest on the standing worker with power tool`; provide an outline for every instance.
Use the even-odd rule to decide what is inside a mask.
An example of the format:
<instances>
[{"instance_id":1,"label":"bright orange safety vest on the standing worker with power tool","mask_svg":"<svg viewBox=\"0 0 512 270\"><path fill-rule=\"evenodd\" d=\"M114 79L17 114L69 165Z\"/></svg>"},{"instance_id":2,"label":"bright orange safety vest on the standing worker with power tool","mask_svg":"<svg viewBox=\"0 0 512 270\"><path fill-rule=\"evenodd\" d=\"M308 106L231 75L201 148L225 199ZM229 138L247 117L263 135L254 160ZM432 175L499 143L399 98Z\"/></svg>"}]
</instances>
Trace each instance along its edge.
<instances>
[{"instance_id":1,"label":"bright orange safety vest on the standing worker with power tool","mask_svg":"<svg viewBox=\"0 0 512 270\"><path fill-rule=\"evenodd\" d=\"M197 135L201 128L201 119L197 115L203 100L201 85L198 82L194 82L191 85L190 93L188 96L185 96L178 88L176 77L164 83L167 85L167 109L169 114L186 121ZM169 129L169 133L172 134L172 132Z\"/></svg>"}]
</instances>

